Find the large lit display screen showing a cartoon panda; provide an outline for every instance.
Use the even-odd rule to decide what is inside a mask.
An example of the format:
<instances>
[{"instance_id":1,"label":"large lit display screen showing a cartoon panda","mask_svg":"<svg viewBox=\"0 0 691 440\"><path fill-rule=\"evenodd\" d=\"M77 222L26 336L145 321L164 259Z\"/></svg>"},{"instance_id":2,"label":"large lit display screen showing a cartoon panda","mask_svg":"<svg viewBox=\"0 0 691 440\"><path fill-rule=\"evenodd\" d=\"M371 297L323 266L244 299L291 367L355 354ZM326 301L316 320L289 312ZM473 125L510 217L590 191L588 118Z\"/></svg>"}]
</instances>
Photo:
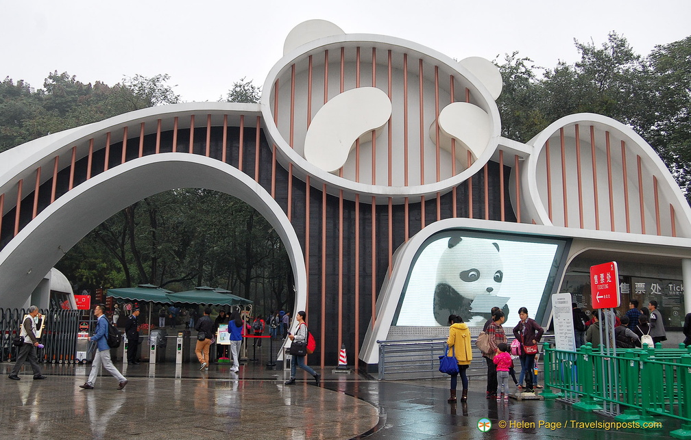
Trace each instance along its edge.
<instances>
[{"instance_id":1,"label":"large lit display screen showing a cartoon panda","mask_svg":"<svg viewBox=\"0 0 691 440\"><path fill-rule=\"evenodd\" d=\"M457 314L484 326L497 306L515 326L518 309L541 318L567 241L507 234L446 231L418 251L393 326L448 326Z\"/></svg>"}]
</instances>

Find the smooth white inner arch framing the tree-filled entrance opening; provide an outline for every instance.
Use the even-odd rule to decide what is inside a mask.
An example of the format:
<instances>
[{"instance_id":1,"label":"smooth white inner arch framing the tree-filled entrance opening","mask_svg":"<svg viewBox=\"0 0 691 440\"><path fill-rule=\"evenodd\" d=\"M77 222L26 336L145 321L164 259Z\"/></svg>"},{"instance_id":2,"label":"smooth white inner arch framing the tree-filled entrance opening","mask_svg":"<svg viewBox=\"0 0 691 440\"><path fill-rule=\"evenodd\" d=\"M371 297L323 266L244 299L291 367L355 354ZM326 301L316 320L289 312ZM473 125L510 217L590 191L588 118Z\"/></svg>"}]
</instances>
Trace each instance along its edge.
<instances>
[{"instance_id":1,"label":"smooth white inner arch framing the tree-filled entrance opening","mask_svg":"<svg viewBox=\"0 0 691 440\"><path fill-rule=\"evenodd\" d=\"M285 212L247 174L216 159L187 153L128 161L80 184L41 211L0 250L0 303L23 306L50 268L93 228L126 206L173 188L225 192L254 207L274 226L290 258L296 289L293 310L305 309L305 259Z\"/></svg>"}]
</instances>

